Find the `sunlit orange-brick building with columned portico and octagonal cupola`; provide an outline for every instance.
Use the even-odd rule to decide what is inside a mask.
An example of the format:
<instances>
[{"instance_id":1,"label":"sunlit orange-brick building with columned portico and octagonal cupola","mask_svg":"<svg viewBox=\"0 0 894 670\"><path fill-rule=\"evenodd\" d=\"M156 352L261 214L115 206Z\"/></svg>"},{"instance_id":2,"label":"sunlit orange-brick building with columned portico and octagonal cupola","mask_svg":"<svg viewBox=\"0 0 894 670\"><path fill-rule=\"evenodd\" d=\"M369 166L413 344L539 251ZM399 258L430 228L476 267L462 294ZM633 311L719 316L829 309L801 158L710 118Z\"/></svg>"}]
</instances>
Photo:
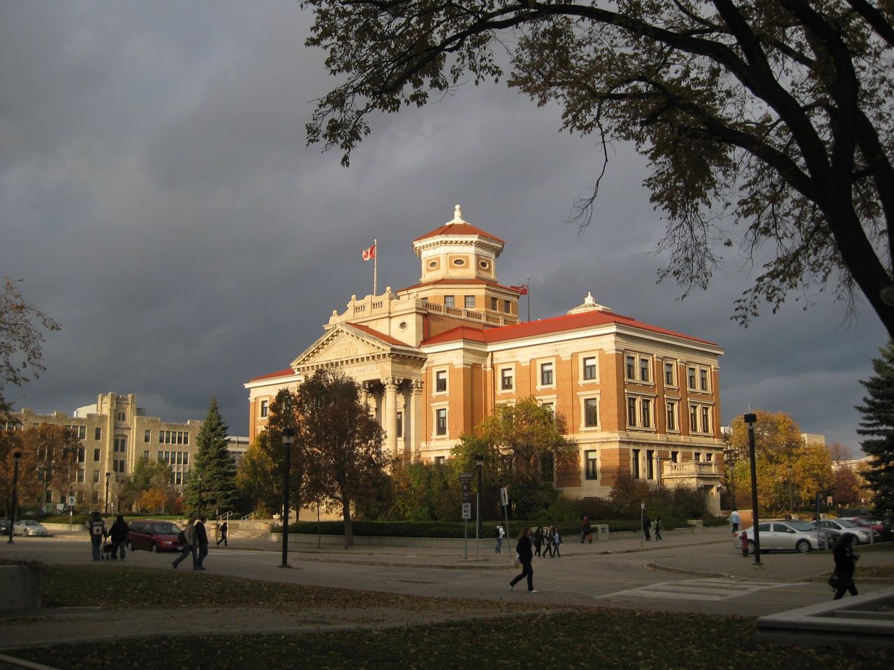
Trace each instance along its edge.
<instances>
[{"instance_id":1,"label":"sunlit orange-brick building with columned portico and octagonal cupola","mask_svg":"<svg viewBox=\"0 0 894 670\"><path fill-rule=\"evenodd\" d=\"M527 287L497 281L502 239L462 218L412 241L417 283L351 296L284 370L250 379L249 438L276 392L319 368L359 382L394 456L439 461L499 404L533 396L578 443L544 480L574 497L606 496L621 474L682 483L720 511L723 443L713 342L616 314L587 294L567 314L519 320Z\"/></svg>"}]
</instances>

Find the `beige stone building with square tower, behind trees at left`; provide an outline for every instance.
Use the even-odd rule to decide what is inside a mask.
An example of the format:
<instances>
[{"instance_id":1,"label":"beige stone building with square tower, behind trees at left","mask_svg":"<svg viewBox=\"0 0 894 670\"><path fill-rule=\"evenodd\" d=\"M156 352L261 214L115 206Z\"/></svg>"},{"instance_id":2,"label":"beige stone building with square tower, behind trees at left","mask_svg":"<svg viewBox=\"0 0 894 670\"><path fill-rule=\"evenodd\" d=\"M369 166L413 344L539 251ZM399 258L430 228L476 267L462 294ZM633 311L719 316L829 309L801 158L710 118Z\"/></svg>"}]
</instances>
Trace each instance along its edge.
<instances>
[{"instance_id":1,"label":"beige stone building with square tower, behind trees at left","mask_svg":"<svg viewBox=\"0 0 894 670\"><path fill-rule=\"evenodd\" d=\"M47 490L44 507L55 510L73 493L79 507L105 507L105 480L109 479L109 509L116 509L117 492L141 457L155 458L171 467L172 482L180 488L197 450L196 438L202 422L163 422L147 416L137 406L133 393L105 393L95 405L78 407L72 416L64 412L37 415L30 409L10 416L6 427L22 430L49 424L65 426L78 433L82 448L71 491Z\"/></svg>"}]
</instances>

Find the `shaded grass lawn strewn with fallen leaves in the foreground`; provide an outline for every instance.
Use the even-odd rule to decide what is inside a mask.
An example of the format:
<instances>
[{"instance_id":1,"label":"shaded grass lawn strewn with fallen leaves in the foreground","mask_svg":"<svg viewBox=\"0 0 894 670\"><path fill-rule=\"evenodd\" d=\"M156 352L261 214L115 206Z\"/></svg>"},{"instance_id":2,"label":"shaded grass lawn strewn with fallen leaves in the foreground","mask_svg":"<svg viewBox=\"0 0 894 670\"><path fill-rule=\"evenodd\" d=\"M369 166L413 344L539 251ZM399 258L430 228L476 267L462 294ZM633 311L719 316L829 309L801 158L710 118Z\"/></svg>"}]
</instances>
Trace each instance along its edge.
<instances>
[{"instance_id":1,"label":"shaded grass lawn strewn with fallen leaves in the foreground","mask_svg":"<svg viewBox=\"0 0 894 670\"><path fill-rule=\"evenodd\" d=\"M95 566L47 566L48 607L204 607L330 609L395 607L455 614L456 620L409 625L272 635L157 637L80 642L16 649L13 656L65 668L134 666L145 670L208 668L280 670L327 668L890 668L894 653L857 649L804 649L756 645L754 622L737 616L634 611L603 607L547 608L505 603L420 598L388 593L257 582L209 574ZM126 595L125 595L126 594ZM131 601L131 606L125 604ZM412 621L412 616L407 619ZM209 629L214 623L209 622Z\"/></svg>"}]
</instances>

